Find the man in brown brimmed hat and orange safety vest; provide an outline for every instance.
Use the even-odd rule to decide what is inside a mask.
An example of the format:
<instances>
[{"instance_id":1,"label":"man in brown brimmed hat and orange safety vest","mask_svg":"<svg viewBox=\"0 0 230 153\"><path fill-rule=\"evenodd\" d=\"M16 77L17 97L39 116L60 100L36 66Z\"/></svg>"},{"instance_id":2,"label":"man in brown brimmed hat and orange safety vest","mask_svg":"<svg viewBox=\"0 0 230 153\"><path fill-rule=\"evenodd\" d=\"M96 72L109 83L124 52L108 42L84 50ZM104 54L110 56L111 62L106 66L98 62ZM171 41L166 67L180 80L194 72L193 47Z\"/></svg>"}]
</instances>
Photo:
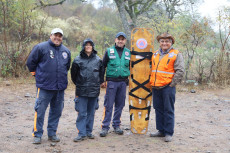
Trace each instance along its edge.
<instances>
[{"instance_id":1,"label":"man in brown brimmed hat and orange safety vest","mask_svg":"<svg viewBox=\"0 0 230 153\"><path fill-rule=\"evenodd\" d=\"M160 49L152 56L150 83L158 131L150 137L165 137L165 142L170 142L174 133L175 86L183 78L184 61L182 54L172 47L175 43L172 35L163 33L157 36L157 41Z\"/></svg>"}]
</instances>

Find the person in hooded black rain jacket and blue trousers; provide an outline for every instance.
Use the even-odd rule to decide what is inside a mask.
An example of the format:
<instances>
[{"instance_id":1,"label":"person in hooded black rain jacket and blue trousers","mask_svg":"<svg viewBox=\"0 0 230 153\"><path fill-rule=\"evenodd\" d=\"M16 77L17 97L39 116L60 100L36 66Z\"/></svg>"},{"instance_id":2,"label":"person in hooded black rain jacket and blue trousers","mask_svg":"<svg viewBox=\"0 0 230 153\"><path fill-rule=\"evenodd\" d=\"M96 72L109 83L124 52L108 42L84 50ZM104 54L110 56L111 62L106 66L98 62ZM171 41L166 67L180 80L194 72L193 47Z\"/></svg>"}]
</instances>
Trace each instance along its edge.
<instances>
[{"instance_id":1,"label":"person in hooded black rain jacket and blue trousers","mask_svg":"<svg viewBox=\"0 0 230 153\"><path fill-rule=\"evenodd\" d=\"M82 51L71 67L71 78L76 85L75 110L78 112L76 126L78 136L74 142L82 141L86 137L93 139L93 123L97 98L100 94L102 80L102 61L94 50L91 39L83 42Z\"/></svg>"}]
</instances>

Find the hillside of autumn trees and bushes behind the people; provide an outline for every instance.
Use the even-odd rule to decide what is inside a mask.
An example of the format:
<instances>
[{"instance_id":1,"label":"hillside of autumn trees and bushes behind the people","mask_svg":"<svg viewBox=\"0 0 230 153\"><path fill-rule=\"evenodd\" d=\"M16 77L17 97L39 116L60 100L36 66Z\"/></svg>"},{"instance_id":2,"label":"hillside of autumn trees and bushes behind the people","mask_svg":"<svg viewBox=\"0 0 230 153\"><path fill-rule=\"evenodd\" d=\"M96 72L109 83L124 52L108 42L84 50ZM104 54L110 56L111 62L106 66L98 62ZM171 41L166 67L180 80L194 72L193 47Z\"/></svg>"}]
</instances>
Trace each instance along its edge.
<instances>
[{"instance_id":1,"label":"hillside of autumn trees and bushes behind the people","mask_svg":"<svg viewBox=\"0 0 230 153\"><path fill-rule=\"evenodd\" d=\"M48 40L53 28L63 29L73 60L86 38L103 57L117 32L130 40L131 30L143 27L152 28L155 37L163 32L175 37L173 46L184 56L185 83L230 84L230 6L219 8L213 21L198 13L202 0L100 0L97 7L92 2L0 0L0 78L28 76L30 51ZM158 47L155 40L154 50Z\"/></svg>"}]
</instances>

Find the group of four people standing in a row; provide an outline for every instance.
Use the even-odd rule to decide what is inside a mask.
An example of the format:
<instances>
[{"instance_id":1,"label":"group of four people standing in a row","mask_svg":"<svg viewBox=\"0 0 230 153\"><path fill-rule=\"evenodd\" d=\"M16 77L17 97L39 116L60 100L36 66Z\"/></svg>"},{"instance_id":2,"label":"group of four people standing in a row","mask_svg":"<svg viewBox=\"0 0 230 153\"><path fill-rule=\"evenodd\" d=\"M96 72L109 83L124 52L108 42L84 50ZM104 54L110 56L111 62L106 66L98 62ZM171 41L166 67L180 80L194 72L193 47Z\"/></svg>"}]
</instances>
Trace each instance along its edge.
<instances>
[{"instance_id":1,"label":"group of four people standing in a row","mask_svg":"<svg viewBox=\"0 0 230 153\"><path fill-rule=\"evenodd\" d=\"M53 29L50 39L34 46L27 60L27 67L35 76L37 87L32 134L34 144L41 143L44 116L49 104L48 140L60 141L56 132L64 108L64 90L68 85L67 74L71 65L71 53L62 44L62 39L63 31L60 28ZM172 47L175 42L172 35L164 33L159 35L157 40L160 49L153 53L150 78L157 132L151 133L150 137L165 137L165 141L170 142L174 133L175 86L183 77L184 62L182 54ZM101 60L97 56L93 40L85 39L80 54L74 59L71 79L76 85L74 102L78 112L78 135L74 142L86 138L94 139L92 131L95 110L99 105L100 88L106 88L100 137L108 135L112 114L114 132L123 134L120 118L125 106L131 57L130 50L125 47L126 41L125 33L117 33L114 46L105 51Z\"/></svg>"}]
</instances>

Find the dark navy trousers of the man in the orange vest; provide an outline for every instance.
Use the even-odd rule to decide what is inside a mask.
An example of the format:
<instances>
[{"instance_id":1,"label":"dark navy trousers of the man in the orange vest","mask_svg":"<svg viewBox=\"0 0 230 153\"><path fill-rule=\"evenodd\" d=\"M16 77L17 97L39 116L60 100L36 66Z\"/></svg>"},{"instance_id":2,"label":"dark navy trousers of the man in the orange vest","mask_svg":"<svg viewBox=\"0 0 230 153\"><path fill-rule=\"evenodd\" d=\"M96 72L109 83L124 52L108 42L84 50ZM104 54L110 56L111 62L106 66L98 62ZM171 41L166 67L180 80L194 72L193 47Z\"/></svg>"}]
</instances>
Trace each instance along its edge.
<instances>
[{"instance_id":1,"label":"dark navy trousers of the man in the orange vest","mask_svg":"<svg viewBox=\"0 0 230 153\"><path fill-rule=\"evenodd\" d=\"M153 108L156 114L156 128L165 135L172 136L174 133L175 95L175 87L153 88Z\"/></svg>"}]
</instances>

